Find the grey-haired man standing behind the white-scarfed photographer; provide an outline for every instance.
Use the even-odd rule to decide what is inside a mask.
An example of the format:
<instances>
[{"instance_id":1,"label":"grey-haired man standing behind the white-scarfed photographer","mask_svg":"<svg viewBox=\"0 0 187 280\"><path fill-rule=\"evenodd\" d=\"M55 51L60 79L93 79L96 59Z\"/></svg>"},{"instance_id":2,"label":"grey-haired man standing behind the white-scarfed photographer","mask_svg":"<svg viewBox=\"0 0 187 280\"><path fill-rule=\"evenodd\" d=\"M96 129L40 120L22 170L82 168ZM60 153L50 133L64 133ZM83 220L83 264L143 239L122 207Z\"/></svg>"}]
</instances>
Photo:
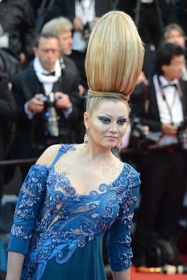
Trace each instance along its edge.
<instances>
[{"instance_id":1,"label":"grey-haired man standing behind the white-scarfed photographer","mask_svg":"<svg viewBox=\"0 0 187 280\"><path fill-rule=\"evenodd\" d=\"M61 48L61 55L60 55L61 67L63 69L67 68L76 72L76 74L79 77L79 81L78 81L79 95L83 95L85 89L81 85L82 81L81 81L81 76L79 74L79 71L74 61L67 57L67 55L70 55L72 52L72 48L71 48L73 44L72 32L71 32L72 29L73 29L73 24L68 18L58 17L45 23L41 33L52 33L58 36L60 40L60 48Z\"/></svg>"}]
</instances>

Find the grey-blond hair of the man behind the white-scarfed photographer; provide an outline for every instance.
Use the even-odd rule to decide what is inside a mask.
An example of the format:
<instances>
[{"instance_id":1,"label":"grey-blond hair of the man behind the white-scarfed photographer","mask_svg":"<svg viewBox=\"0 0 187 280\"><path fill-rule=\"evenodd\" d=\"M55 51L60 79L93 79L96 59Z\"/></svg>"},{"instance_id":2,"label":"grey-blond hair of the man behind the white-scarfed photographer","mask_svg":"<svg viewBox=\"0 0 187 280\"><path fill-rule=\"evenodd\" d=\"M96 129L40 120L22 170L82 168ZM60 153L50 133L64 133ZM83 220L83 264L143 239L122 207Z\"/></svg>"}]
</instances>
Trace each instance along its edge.
<instances>
[{"instance_id":1,"label":"grey-blond hair of the man behind the white-scarfed photographer","mask_svg":"<svg viewBox=\"0 0 187 280\"><path fill-rule=\"evenodd\" d=\"M43 25L41 33L53 33L58 36L59 32L65 32L73 29L73 24L66 17L51 19Z\"/></svg>"}]
</instances>

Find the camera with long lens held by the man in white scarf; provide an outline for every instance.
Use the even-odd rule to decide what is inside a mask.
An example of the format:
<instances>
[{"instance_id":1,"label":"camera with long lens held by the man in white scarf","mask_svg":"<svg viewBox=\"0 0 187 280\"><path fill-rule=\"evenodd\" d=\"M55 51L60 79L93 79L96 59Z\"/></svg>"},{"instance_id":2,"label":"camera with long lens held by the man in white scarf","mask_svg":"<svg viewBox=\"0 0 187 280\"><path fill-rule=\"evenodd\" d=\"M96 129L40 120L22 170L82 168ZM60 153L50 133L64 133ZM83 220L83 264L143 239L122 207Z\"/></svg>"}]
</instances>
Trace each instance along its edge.
<instances>
[{"instance_id":1,"label":"camera with long lens held by the man in white scarf","mask_svg":"<svg viewBox=\"0 0 187 280\"><path fill-rule=\"evenodd\" d=\"M53 92L38 98L38 100L43 101L45 104L44 110L42 112L42 126L46 137L59 136L60 116L57 114L55 108L58 99L60 98L55 98L55 94Z\"/></svg>"}]
</instances>

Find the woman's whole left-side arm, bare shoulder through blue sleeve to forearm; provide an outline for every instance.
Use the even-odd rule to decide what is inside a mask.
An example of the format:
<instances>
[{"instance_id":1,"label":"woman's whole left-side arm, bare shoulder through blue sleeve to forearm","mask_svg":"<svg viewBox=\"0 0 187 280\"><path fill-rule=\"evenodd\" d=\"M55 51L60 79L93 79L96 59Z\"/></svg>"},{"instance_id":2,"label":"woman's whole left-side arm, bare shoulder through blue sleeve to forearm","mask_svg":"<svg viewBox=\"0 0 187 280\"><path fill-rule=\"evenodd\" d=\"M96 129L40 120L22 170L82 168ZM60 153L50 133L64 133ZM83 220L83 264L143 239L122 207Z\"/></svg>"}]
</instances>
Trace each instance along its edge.
<instances>
[{"instance_id":1,"label":"woman's whole left-side arm, bare shoulder through blue sleeve to forearm","mask_svg":"<svg viewBox=\"0 0 187 280\"><path fill-rule=\"evenodd\" d=\"M6 280L20 279L24 256L28 253L33 227L40 213L46 191L48 171L46 166L40 164L50 165L59 148L60 145L50 146L38 159L37 164L31 167L22 184L8 246Z\"/></svg>"}]
</instances>

